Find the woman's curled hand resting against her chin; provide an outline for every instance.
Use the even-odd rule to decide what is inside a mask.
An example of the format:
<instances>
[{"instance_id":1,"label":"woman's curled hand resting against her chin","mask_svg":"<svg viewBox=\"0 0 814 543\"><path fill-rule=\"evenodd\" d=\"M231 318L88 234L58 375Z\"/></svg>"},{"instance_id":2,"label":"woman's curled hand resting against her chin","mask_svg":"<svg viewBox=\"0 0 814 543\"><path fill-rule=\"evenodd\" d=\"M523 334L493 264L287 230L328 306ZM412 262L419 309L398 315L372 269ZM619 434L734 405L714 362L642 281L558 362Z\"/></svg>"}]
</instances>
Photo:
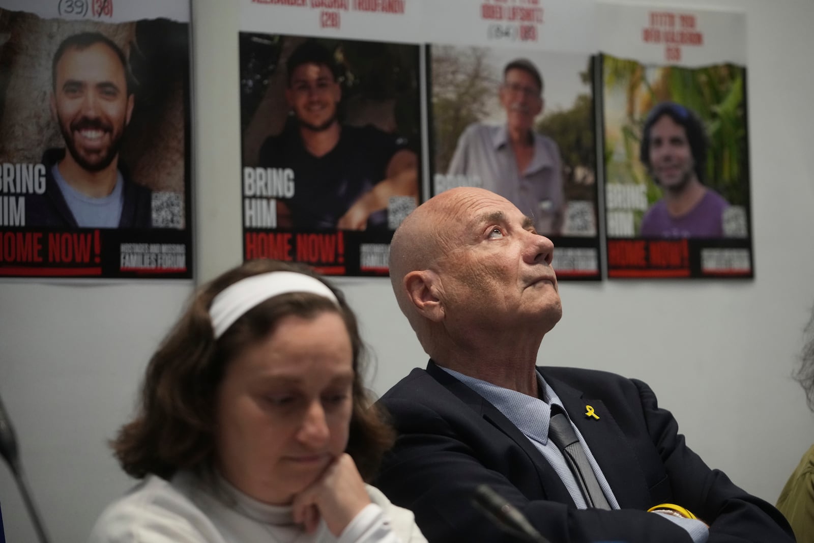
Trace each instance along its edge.
<instances>
[{"instance_id":1,"label":"woman's curled hand resting against her chin","mask_svg":"<svg viewBox=\"0 0 814 543\"><path fill-rule=\"evenodd\" d=\"M319 479L294 497L294 520L313 533L322 517L330 532L339 537L369 503L356 464L348 453L342 453L328 464Z\"/></svg>"}]
</instances>

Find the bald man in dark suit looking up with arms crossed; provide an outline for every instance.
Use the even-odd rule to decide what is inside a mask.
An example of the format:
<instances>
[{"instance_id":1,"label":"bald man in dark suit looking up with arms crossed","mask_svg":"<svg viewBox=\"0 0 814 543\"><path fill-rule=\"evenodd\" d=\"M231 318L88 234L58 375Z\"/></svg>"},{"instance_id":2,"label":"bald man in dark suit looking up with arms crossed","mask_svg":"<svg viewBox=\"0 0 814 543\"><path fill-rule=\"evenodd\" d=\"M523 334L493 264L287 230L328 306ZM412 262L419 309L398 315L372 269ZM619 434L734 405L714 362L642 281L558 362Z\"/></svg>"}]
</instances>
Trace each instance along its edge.
<instances>
[{"instance_id":1,"label":"bald man in dark suit looking up with arms crossed","mask_svg":"<svg viewBox=\"0 0 814 543\"><path fill-rule=\"evenodd\" d=\"M685 445L646 383L536 367L562 316L553 251L488 190L446 191L401 223L393 290L431 360L381 399L399 437L377 486L429 541L519 541L471 505L480 484L554 543L794 541Z\"/></svg>"}]
</instances>

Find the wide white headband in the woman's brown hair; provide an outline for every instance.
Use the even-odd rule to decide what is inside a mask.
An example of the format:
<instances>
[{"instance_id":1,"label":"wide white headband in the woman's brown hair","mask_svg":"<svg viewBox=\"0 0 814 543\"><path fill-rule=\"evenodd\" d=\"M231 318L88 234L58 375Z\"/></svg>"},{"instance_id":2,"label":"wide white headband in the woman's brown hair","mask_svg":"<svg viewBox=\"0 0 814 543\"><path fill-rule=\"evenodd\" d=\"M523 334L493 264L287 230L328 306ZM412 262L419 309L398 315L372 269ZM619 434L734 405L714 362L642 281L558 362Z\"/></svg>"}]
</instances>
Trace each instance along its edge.
<instances>
[{"instance_id":1,"label":"wide white headband in the woman's brown hair","mask_svg":"<svg viewBox=\"0 0 814 543\"><path fill-rule=\"evenodd\" d=\"M212 300L209 318L212 319L215 339L221 337L249 309L269 298L291 292L309 292L339 305L333 291L310 275L286 271L252 275L226 287Z\"/></svg>"}]
</instances>

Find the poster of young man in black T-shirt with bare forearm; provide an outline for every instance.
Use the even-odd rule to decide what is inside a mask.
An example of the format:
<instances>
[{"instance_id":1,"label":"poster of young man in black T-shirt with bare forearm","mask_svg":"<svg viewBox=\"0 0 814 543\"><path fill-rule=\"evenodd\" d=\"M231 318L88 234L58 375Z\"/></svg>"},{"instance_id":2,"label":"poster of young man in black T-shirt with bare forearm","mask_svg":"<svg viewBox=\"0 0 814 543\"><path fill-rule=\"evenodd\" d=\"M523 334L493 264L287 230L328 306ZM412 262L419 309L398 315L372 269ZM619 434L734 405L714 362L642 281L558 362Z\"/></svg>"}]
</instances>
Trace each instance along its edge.
<instances>
[{"instance_id":1,"label":"poster of young man in black T-shirt with bare forearm","mask_svg":"<svg viewBox=\"0 0 814 543\"><path fill-rule=\"evenodd\" d=\"M339 28L406 16L404 2L364 3L327 12ZM243 28L280 26L291 11L309 33L240 33L244 258L386 275L393 231L422 197L418 46L347 39L309 7L261 8Z\"/></svg>"}]
</instances>

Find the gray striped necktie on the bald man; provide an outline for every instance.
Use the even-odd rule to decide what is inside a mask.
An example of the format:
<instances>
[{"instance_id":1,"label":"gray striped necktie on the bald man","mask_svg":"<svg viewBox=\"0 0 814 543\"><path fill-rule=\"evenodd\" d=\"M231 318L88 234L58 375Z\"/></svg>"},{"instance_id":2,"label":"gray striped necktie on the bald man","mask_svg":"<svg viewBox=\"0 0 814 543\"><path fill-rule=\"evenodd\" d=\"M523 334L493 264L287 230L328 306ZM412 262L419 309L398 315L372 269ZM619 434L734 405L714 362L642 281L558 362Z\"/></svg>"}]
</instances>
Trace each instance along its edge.
<instances>
[{"instance_id":1,"label":"gray striped necktie on the bald man","mask_svg":"<svg viewBox=\"0 0 814 543\"><path fill-rule=\"evenodd\" d=\"M549 440L554 441L557 448L562 452L568 468L574 474L576 483L580 485L580 490L585 498L585 503L589 507L596 509L610 510L610 505L602 493L597 476L594 475L588 457L580 444L579 438L571 427L562 407L551 405L551 420L549 421Z\"/></svg>"}]
</instances>

